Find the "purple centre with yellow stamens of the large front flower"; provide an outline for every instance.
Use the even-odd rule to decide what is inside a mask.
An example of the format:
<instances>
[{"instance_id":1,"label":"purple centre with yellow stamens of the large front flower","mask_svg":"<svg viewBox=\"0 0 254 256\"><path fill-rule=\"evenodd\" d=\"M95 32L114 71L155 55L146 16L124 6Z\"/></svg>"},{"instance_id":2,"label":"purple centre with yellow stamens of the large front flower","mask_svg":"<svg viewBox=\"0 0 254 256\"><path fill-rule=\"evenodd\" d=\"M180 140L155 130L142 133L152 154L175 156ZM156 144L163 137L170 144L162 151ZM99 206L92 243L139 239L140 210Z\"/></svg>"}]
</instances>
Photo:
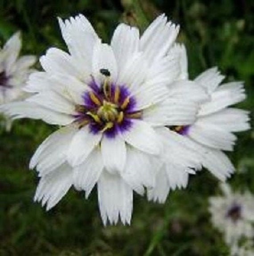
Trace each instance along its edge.
<instances>
[{"instance_id":1,"label":"purple centre with yellow stamens of the large front flower","mask_svg":"<svg viewBox=\"0 0 254 256\"><path fill-rule=\"evenodd\" d=\"M74 115L79 128L89 125L90 132L103 132L109 138L114 138L118 132L129 130L132 119L142 118L142 111L135 111L136 101L124 85L111 83L105 76L104 83L90 84L89 91L82 95L83 104L76 105Z\"/></svg>"}]
</instances>

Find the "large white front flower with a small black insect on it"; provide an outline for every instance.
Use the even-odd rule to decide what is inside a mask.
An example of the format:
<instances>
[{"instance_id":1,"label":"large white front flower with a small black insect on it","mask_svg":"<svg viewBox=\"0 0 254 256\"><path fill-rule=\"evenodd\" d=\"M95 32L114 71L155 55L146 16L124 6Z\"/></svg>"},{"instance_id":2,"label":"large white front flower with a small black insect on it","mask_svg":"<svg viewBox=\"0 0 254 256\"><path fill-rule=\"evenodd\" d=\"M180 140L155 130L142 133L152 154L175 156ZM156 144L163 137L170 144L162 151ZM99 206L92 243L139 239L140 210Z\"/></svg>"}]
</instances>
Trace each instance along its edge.
<instances>
[{"instance_id":1,"label":"large white front flower with a small black insect on it","mask_svg":"<svg viewBox=\"0 0 254 256\"><path fill-rule=\"evenodd\" d=\"M36 94L2 109L65 126L31 159L41 177L35 200L50 209L71 185L88 197L97 184L104 224L130 223L133 190L155 185L163 150L157 129L188 125L197 114L188 96L167 88L180 75L179 53L167 55L179 27L161 15L139 37L120 24L108 45L82 15L59 23L70 54L50 48L40 59L45 71L25 88Z\"/></svg>"}]
</instances>

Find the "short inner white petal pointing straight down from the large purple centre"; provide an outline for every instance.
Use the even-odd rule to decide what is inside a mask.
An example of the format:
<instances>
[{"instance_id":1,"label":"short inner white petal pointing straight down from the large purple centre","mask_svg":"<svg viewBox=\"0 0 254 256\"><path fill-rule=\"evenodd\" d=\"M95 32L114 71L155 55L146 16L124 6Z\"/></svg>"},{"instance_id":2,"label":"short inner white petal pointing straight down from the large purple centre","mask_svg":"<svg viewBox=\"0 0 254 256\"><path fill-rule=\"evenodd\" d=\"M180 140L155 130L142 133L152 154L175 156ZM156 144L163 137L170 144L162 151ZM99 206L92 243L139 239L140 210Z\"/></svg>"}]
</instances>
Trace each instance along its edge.
<instances>
[{"instance_id":1,"label":"short inner white petal pointing straight down from the large purple centre","mask_svg":"<svg viewBox=\"0 0 254 256\"><path fill-rule=\"evenodd\" d=\"M101 151L104 166L110 173L123 172L126 163L126 145L121 136L107 138L103 136Z\"/></svg>"}]
</instances>

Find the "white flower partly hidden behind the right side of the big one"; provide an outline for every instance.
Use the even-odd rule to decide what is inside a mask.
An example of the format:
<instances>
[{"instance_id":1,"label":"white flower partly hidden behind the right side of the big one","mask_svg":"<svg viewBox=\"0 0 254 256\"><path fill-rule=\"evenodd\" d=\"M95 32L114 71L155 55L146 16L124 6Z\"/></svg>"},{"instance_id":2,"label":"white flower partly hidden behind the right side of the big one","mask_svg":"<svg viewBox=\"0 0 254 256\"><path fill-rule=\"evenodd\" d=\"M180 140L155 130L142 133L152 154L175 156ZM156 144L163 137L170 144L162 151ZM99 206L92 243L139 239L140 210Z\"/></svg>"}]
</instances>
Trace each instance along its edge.
<instances>
[{"instance_id":1,"label":"white flower partly hidden behind the right side of the big one","mask_svg":"<svg viewBox=\"0 0 254 256\"><path fill-rule=\"evenodd\" d=\"M190 95L199 105L199 110L193 123L187 126L167 126L160 133L165 141L164 165L157 174L156 187L148 192L149 199L160 202L166 200L169 189L186 187L188 173L195 173L193 170L199 170L202 166L225 181L234 172L234 166L222 150L233 150L236 140L233 132L250 128L248 111L228 107L245 99L243 83L220 85L224 76L216 67L190 81L185 47L176 44L170 53L176 52L181 56L181 72L178 81L174 81L168 88L171 95ZM208 97L202 96L199 91L197 93L198 89L202 89ZM172 144L170 137L175 138L176 145Z\"/></svg>"}]
</instances>

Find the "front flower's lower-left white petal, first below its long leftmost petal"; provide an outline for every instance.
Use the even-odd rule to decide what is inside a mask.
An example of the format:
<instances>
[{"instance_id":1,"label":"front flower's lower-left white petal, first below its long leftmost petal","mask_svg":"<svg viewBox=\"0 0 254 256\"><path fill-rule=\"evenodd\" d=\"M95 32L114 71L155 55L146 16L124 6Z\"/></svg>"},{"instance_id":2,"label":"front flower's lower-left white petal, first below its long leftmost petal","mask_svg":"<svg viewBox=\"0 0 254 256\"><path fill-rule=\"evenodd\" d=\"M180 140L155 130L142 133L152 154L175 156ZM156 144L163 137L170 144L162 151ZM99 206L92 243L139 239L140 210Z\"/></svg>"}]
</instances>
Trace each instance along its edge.
<instances>
[{"instance_id":1,"label":"front flower's lower-left white petal, first below its long leftmost petal","mask_svg":"<svg viewBox=\"0 0 254 256\"><path fill-rule=\"evenodd\" d=\"M37 166L39 176L52 172L66 161L66 151L75 133L72 127L63 127L49 135L37 148L30 160L29 168Z\"/></svg>"}]
</instances>

